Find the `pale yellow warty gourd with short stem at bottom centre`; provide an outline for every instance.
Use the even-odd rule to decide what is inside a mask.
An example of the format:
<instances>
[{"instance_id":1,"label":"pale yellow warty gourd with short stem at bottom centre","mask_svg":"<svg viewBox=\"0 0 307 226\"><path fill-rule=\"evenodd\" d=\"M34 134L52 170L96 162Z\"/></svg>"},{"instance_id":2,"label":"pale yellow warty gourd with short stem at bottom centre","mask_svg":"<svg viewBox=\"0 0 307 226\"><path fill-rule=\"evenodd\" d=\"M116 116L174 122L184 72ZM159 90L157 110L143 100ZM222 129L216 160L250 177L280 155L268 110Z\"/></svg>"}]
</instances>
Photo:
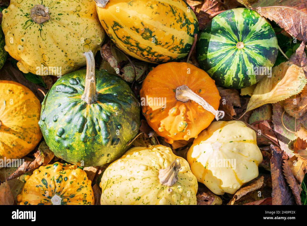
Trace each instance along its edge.
<instances>
[{"instance_id":1,"label":"pale yellow warty gourd with short stem at bottom centre","mask_svg":"<svg viewBox=\"0 0 307 226\"><path fill-rule=\"evenodd\" d=\"M196 205L198 184L188 162L169 147L134 147L101 179L101 204Z\"/></svg>"}]
</instances>

